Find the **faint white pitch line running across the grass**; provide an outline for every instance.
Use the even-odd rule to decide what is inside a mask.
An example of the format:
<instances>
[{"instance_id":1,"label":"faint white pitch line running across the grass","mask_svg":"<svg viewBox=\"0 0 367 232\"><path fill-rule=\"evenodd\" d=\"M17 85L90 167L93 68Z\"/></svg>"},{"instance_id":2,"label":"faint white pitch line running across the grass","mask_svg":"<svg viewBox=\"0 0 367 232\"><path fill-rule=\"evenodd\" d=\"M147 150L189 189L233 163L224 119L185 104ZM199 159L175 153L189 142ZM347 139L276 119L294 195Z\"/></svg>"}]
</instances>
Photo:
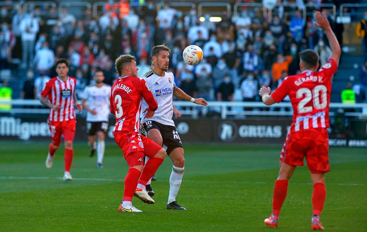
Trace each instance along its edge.
<instances>
[{"instance_id":1,"label":"faint white pitch line running across the grass","mask_svg":"<svg viewBox=\"0 0 367 232\"><path fill-rule=\"evenodd\" d=\"M43 180L43 179L57 179L62 180L62 177L49 177L49 176L0 176L0 179L34 179L34 180ZM75 177L73 180L90 180L90 181L116 181L123 182L124 179L113 179L113 178L83 178L83 177ZM168 179L160 179L155 180L157 182L167 182ZM273 184L274 182L249 182L249 181L218 181L218 180L185 180L185 182L193 182L193 183L242 183L242 184ZM312 185L312 183L289 183L296 185ZM339 186L366 186L367 184L355 184L355 183L326 183L326 185L339 185Z\"/></svg>"}]
</instances>

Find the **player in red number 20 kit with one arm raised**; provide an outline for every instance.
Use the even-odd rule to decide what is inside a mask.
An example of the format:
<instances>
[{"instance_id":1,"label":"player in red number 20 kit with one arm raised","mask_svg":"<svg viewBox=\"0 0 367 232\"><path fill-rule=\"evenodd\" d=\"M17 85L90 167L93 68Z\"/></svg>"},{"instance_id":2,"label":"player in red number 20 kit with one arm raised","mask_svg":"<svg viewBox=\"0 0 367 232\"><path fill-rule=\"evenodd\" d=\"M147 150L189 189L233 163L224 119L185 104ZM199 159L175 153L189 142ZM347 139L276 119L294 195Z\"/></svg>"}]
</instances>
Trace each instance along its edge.
<instances>
[{"instance_id":1,"label":"player in red number 20 kit with one arm raised","mask_svg":"<svg viewBox=\"0 0 367 232\"><path fill-rule=\"evenodd\" d=\"M292 124L280 154L280 171L273 193L273 212L264 223L277 227L278 217L287 196L288 180L296 166L302 166L306 157L313 183L311 227L324 228L320 214L324 207L326 188L325 172L330 171L328 157L329 102L331 77L337 71L341 49L324 14L316 12L317 27L324 29L329 40L332 54L319 71L319 56L313 50L300 53L299 67L302 73L288 76L271 95L270 88L262 86L259 94L266 105L280 102L289 95L292 107Z\"/></svg>"}]
</instances>

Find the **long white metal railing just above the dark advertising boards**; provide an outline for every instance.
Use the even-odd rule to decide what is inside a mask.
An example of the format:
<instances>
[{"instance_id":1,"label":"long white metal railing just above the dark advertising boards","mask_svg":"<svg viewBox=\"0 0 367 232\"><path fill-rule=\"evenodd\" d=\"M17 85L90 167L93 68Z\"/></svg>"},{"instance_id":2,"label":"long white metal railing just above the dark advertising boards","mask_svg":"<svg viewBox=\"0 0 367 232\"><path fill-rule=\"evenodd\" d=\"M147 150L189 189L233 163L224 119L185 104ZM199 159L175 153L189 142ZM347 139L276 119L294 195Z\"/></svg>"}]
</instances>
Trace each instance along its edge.
<instances>
[{"instance_id":1,"label":"long white metal railing just above the dark advertising boards","mask_svg":"<svg viewBox=\"0 0 367 232\"><path fill-rule=\"evenodd\" d=\"M39 100L12 100L12 101L0 101L0 104L11 104L12 106L41 106ZM174 101L173 104L180 109L182 115L197 116L199 111L203 109L210 109L212 112L219 112L222 119L226 119L227 116L291 116L292 105L290 102L280 102L267 106L262 102L228 102L228 101L209 101L208 106L196 105L188 101ZM185 109L183 109L185 108ZM244 108L254 108L256 110L245 111ZM259 109L264 108L286 108L290 111L261 111ZM346 112L346 116L352 117L366 117L367 118L367 103L356 104L342 104L342 103L330 103L331 109L360 109L361 112ZM48 108L32 109L32 108L12 108L9 113L23 113L23 114L47 114L50 110ZM6 113L0 111L0 113ZM333 116L334 112L330 112L330 116Z\"/></svg>"}]
</instances>

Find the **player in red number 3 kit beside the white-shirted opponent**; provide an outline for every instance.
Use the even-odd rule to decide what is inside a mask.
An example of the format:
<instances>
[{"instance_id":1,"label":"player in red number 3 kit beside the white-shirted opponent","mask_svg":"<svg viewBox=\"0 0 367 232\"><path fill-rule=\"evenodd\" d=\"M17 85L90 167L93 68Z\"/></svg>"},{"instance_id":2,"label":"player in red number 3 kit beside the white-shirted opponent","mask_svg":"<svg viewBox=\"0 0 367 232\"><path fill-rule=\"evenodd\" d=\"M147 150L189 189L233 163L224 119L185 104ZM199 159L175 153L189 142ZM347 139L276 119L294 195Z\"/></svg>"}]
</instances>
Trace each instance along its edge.
<instances>
[{"instance_id":1,"label":"player in red number 3 kit beside the white-shirted opponent","mask_svg":"<svg viewBox=\"0 0 367 232\"><path fill-rule=\"evenodd\" d=\"M137 185L139 183L146 186L166 157L166 152L161 146L139 134L141 102L144 98L148 104L144 111L147 112L146 118L154 115L158 104L144 79L138 78L139 68L134 56L119 56L115 61L115 68L120 77L113 84L110 97L110 112L116 117L113 136L129 165L119 211L141 212L132 206L132 196L135 195L145 203L154 204L148 192L137 188ZM144 168L143 156L150 158Z\"/></svg>"}]
</instances>

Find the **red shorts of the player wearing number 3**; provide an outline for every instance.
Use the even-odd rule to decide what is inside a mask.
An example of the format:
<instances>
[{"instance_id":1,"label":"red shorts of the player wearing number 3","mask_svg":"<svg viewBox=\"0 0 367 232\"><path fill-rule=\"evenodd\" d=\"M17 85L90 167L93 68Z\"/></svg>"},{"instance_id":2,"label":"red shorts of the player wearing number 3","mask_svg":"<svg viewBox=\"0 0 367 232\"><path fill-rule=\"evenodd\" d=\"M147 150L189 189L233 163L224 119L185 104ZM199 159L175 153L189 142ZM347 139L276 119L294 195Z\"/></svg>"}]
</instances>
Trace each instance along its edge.
<instances>
[{"instance_id":1,"label":"red shorts of the player wearing number 3","mask_svg":"<svg viewBox=\"0 0 367 232\"><path fill-rule=\"evenodd\" d=\"M143 165L143 156L153 158L162 149L157 143L138 132L115 131L114 137L129 168Z\"/></svg>"}]
</instances>

